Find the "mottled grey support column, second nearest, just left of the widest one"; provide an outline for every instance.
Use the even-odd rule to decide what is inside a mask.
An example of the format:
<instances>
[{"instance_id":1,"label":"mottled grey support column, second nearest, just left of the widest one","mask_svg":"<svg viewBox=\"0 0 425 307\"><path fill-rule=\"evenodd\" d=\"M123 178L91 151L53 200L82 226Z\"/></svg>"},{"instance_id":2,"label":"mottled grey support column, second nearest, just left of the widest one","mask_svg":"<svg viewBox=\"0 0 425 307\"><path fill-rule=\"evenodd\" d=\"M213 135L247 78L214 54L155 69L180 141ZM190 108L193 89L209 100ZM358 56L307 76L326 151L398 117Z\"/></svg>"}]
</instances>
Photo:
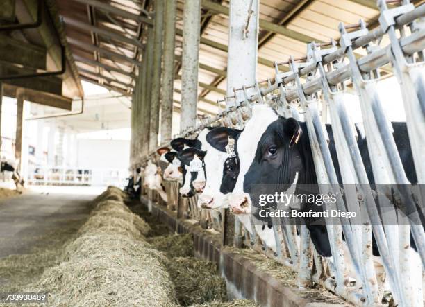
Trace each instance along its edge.
<instances>
[{"instance_id":1,"label":"mottled grey support column, second nearest, just left of the widest one","mask_svg":"<svg viewBox=\"0 0 425 307\"><path fill-rule=\"evenodd\" d=\"M201 0L185 0L183 8L183 59L181 67L180 131L197 123Z\"/></svg>"}]
</instances>

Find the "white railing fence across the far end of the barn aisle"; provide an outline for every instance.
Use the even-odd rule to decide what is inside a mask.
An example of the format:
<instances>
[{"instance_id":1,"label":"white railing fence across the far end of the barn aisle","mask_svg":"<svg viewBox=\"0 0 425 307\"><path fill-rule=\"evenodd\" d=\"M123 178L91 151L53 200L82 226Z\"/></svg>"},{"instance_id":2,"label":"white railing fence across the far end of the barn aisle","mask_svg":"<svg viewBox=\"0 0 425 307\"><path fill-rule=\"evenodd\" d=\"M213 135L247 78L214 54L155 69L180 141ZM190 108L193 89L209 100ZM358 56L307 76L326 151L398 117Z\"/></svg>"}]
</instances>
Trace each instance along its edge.
<instances>
[{"instance_id":1,"label":"white railing fence across the far end of the barn aisle","mask_svg":"<svg viewBox=\"0 0 425 307\"><path fill-rule=\"evenodd\" d=\"M27 182L35 185L125 186L127 177L126 169L31 166Z\"/></svg>"}]
</instances>

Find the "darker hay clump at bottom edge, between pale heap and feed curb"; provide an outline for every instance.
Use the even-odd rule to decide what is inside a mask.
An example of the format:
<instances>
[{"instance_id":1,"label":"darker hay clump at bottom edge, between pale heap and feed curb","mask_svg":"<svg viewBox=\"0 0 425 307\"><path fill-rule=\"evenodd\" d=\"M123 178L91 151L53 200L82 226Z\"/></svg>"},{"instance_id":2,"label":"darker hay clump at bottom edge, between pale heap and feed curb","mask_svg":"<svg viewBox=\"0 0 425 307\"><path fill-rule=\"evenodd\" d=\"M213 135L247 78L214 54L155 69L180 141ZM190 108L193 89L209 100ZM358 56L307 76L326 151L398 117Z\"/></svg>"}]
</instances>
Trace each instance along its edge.
<instances>
[{"instance_id":1,"label":"darker hay clump at bottom edge, between pale heap and feed curb","mask_svg":"<svg viewBox=\"0 0 425 307\"><path fill-rule=\"evenodd\" d=\"M191 257L169 261L167 270L183 306L226 300L226 282L217 275L216 264Z\"/></svg>"}]
</instances>

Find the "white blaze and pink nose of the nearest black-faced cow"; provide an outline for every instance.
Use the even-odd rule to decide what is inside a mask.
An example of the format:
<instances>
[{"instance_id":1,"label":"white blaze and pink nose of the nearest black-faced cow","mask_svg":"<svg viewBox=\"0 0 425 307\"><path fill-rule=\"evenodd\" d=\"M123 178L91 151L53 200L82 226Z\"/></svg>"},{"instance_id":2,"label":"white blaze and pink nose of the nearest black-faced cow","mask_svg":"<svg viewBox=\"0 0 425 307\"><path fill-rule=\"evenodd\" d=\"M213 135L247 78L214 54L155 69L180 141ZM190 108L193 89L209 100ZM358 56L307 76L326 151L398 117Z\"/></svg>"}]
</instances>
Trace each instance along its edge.
<instances>
[{"instance_id":1,"label":"white blaze and pink nose of the nearest black-faced cow","mask_svg":"<svg viewBox=\"0 0 425 307\"><path fill-rule=\"evenodd\" d=\"M244 177L256 155L258 142L267 127L278 119L278 114L268 105L256 105L252 108L252 117L239 136L237 149L240 171L235 188L229 195L229 203L235 214L249 214L251 198L244 192Z\"/></svg>"}]
</instances>

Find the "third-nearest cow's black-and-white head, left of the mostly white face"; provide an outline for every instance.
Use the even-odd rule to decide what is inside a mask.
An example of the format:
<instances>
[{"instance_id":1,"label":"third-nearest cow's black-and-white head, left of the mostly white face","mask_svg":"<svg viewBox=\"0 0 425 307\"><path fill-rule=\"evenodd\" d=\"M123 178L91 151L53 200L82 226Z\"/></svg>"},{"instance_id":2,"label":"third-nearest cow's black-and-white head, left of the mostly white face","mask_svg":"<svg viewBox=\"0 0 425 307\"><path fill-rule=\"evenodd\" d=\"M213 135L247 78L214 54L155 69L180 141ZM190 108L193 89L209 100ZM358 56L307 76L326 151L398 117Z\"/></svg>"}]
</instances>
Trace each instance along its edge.
<instances>
[{"instance_id":1,"label":"third-nearest cow's black-and-white head, left of the mostly white face","mask_svg":"<svg viewBox=\"0 0 425 307\"><path fill-rule=\"evenodd\" d=\"M205 186L205 165L203 158L206 151L197 148L186 148L178 152L178 159L185 165L186 170L191 173L190 185L194 188L196 193L201 193Z\"/></svg>"}]
</instances>

